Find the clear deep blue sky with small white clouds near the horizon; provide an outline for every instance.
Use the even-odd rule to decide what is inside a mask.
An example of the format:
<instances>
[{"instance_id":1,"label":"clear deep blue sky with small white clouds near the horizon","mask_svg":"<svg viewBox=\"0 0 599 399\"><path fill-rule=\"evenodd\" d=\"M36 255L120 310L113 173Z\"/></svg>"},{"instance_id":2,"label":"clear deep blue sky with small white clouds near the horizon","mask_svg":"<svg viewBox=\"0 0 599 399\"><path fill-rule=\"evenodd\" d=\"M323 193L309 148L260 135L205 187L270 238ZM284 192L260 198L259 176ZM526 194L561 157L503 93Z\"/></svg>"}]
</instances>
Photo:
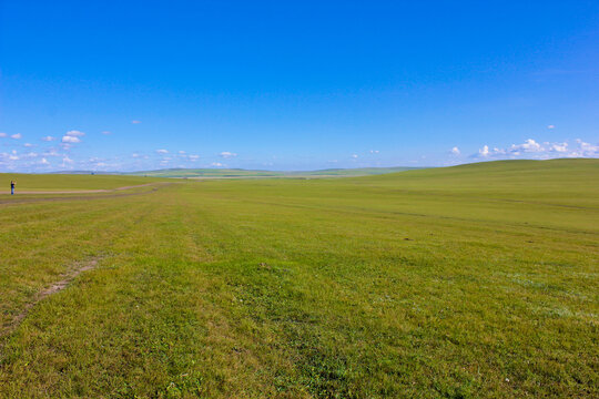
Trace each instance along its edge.
<instances>
[{"instance_id":1,"label":"clear deep blue sky with small white clouds near the horizon","mask_svg":"<svg viewBox=\"0 0 599 399\"><path fill-rule=\"evenodd\" d=\"M599 156L598 1L0 0L0 172Z\"/></svg>"}]
</instances>

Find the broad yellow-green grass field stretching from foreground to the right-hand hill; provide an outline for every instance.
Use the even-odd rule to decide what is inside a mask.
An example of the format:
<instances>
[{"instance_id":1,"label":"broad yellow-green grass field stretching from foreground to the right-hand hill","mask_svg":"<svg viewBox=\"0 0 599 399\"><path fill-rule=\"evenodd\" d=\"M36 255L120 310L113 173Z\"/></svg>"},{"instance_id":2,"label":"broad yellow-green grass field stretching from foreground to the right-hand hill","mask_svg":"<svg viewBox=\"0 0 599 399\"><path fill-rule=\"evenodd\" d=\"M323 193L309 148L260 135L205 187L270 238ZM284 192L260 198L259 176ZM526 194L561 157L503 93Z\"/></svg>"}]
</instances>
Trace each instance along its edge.
<instances>
[{"instance_id":1,"label":"broad yellow-green grass field stretching from foreground to the right-hand hill","mask_svg":"<svg viewBox=\"0 0 599 399\"><path fill-rule=\"evenodd\" d=\"M599 160L156 187L0 204L0 397L599 396Z\"/></svg>"}]
</instances>

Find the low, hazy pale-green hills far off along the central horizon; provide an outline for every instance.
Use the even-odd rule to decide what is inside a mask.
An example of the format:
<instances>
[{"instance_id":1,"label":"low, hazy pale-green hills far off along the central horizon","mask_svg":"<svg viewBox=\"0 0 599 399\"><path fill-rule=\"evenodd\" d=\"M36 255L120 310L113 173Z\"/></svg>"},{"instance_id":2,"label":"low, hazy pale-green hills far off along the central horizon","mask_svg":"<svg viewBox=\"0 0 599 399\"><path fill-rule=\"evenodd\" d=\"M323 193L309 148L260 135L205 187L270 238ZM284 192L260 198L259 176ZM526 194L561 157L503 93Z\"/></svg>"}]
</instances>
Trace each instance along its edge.
<instances>
[{"instance_id":1,"label":"low, hazy pale-green hills far off along the central horizon","mask_svg":"<svg viewBox=\"0 0 599 399\"><path fill-rule=\"evenodd\" d=\"M276 171L250 171L241 168L167 168L158 171L133 172L135 176L154 177L192 177L192 178L265 178L265 177L351 177L367 176L394 172L416 170L417 167L356 167L356 168L328 168L319 171L302 172L276 172Z\"/></svg>"}]
</instances>

